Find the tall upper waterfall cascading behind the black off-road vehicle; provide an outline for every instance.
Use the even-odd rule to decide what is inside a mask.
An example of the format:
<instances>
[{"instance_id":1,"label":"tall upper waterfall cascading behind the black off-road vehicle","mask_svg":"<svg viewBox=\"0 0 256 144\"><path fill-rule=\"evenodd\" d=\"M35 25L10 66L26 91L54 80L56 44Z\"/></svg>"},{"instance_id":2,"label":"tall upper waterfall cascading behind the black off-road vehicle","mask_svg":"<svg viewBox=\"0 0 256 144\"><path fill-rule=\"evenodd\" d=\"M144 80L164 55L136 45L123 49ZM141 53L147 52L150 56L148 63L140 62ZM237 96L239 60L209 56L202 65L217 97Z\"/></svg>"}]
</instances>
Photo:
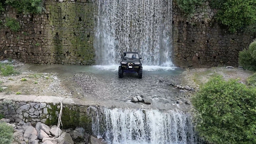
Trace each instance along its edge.
<instances>
[{"instance_id":1,"label":"tall upper waterfall cascading behind the black off-road vehicle","mask_svg":"<svg viewBox=\"0 0 256 144\"><path fill-rule=\"evenodd\" d=\"M172 0L98 0L94 48L100 65L137 51L143 65L173 66Z\"/></svg>"}]
</instances>

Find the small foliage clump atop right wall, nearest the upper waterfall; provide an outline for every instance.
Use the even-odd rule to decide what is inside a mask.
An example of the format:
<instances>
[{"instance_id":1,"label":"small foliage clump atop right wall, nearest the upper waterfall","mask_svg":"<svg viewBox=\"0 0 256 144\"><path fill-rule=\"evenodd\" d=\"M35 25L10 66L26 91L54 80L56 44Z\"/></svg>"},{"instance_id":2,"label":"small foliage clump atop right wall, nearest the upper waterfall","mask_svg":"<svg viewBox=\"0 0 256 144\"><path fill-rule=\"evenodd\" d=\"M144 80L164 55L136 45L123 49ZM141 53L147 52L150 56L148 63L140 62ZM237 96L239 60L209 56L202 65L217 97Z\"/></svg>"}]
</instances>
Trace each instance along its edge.
<instances>
[{"instance_id":1,"label":"small foliage clump atop right wall, nearest the upper waterfall","mask_svg":"<svg viewBox=\"0 0 256 144\"><path fill-rule=\"evenodd\" d=\"M202 4L203 0L177 0L178 7L185 15L195 12L195 6Z\"/></svg>"}]
</instances>

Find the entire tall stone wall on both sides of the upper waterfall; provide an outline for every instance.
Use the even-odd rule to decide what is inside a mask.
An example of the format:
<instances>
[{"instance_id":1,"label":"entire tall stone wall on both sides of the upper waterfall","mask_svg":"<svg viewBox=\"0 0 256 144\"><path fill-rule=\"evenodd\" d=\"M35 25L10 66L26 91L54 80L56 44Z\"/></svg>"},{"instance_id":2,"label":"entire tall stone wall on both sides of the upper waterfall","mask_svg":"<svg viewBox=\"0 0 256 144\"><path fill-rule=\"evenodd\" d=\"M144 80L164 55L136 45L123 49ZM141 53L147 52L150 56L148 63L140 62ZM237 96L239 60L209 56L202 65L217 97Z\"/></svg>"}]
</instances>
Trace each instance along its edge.
<instances>
[{"instance_id":1,"label":"entire tall stone wall on both sides of the upper waterfall","mask_svg":"<svg viewBox=\"0 0 256 144\"><path fill-rule=\"evenodd\" d=\"M97 0L45 0L42 14L17 14L7 7L1 21L14 17L21 24L12 32L0 24L0 59L12 58L35 64L94 64L94 14ZM254 34L229 33L214 22L216 11L209 2L184 16L173 0L173 55L175 65L237 65L238 53L247 48Z\"/></svg>"}]
</instances>

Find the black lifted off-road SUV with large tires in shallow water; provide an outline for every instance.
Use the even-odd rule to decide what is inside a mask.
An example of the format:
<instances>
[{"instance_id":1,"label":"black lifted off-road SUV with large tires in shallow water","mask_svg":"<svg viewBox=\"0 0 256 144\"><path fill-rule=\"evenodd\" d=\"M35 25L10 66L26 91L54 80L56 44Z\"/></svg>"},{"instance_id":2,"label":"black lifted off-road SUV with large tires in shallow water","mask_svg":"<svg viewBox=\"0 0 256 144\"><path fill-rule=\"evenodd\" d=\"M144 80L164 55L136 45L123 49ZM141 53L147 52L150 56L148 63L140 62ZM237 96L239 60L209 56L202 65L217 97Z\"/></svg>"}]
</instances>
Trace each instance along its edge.
<instances>
[{"instance_id":1,"label":"black lifted off-road SUV with large tires in shallow water","mask_svg":"<svg viewBox=\"0 0 256 144\"><path fill-rule=\"evenodd\" d=\"M140 60L138 52L124 52L118 69L118 77L123 78L124 73L138 73L138 78L142 78Z\"/></svg>"}]
</instances>

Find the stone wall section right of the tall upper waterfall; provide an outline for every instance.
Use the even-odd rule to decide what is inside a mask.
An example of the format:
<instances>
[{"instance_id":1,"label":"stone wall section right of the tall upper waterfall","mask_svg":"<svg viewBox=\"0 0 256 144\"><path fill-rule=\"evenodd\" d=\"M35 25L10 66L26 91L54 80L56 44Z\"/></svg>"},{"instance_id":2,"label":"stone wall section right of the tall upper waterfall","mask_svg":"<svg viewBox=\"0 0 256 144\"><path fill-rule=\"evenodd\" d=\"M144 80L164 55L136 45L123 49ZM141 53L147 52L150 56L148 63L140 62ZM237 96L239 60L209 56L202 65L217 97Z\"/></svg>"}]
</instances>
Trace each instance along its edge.
<instances>
[{"instance_id":1,"label":"stone wall section right of the tall upper waterfall","mask_svg":"<svg viewBox=\"0 0 256 144\"><path fill-rule=\"evenodd\" d=\"M180 66L237 65L238 54L256 38L255 34L231 34L214 22L216 10L209 2L185 17L173 1L173 61Z\"/></svg>"}]
</instances>

